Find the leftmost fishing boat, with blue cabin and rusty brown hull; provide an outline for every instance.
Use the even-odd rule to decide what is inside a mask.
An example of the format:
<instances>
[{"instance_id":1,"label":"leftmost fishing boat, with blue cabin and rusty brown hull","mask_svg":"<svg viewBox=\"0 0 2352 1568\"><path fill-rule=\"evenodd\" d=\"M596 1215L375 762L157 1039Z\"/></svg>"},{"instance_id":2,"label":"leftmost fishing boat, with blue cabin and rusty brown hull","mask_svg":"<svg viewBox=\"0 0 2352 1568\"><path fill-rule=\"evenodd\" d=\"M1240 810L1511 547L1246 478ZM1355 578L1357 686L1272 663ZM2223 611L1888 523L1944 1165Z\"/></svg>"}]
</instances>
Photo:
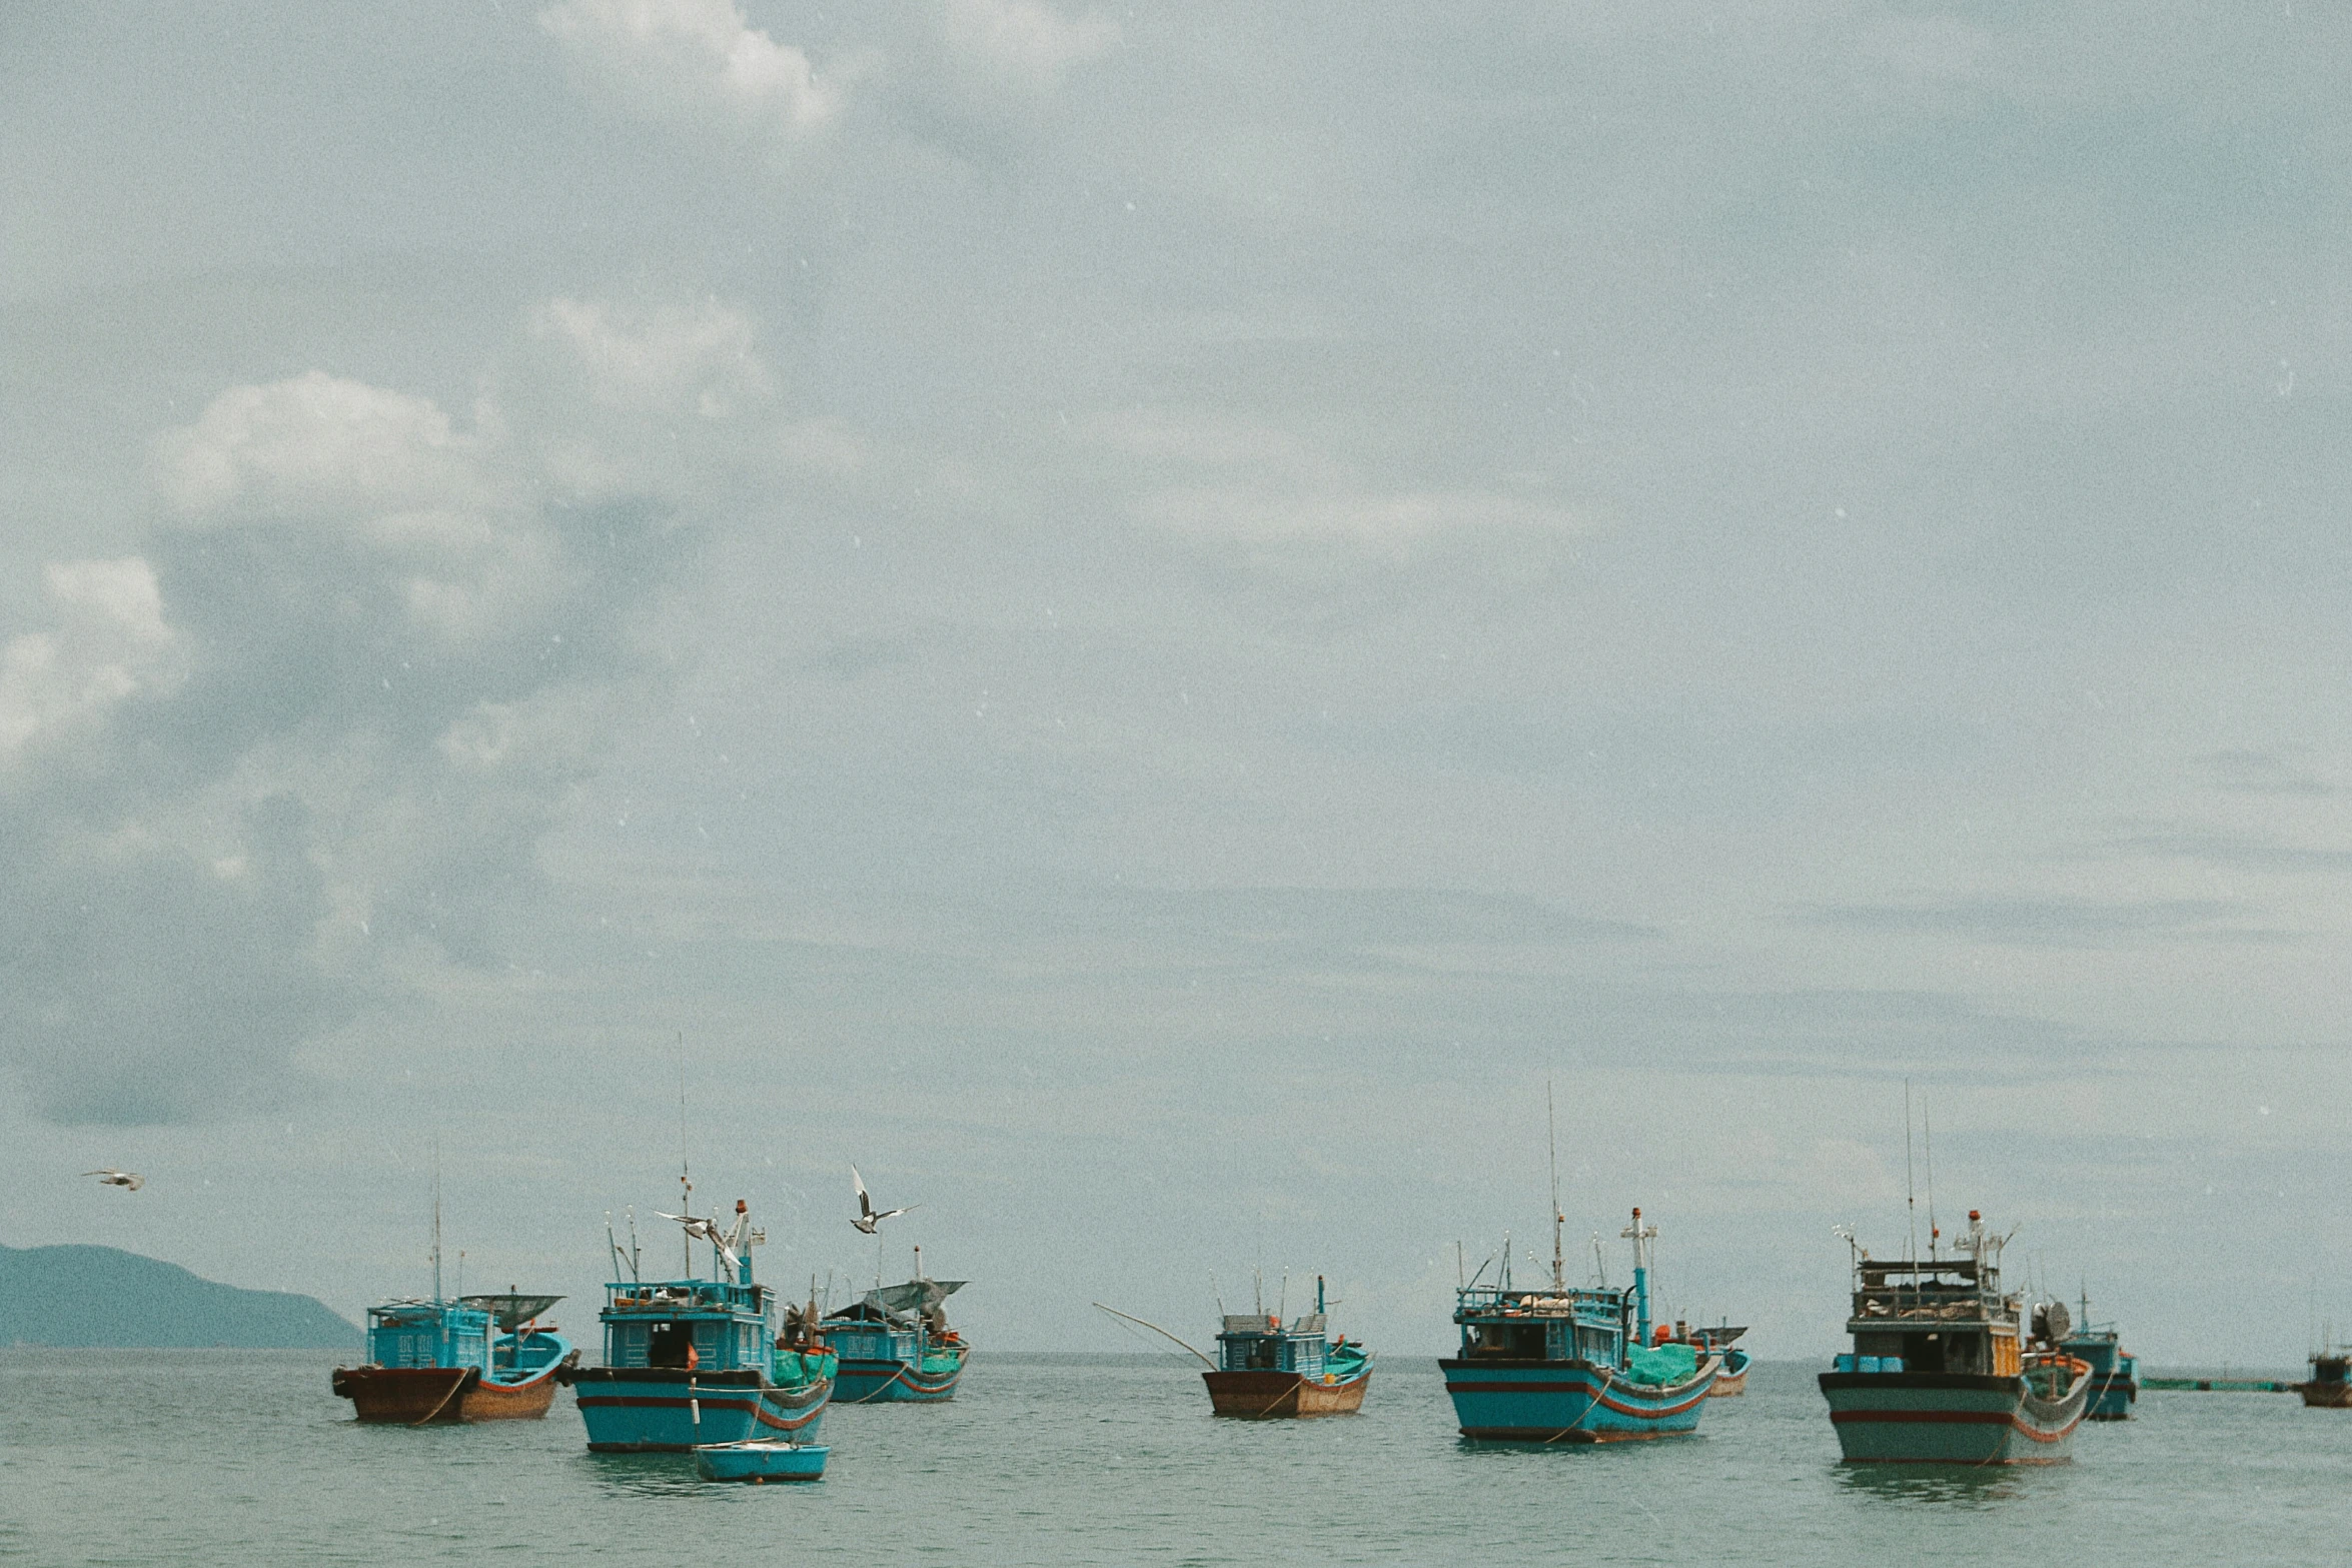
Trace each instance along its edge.
<instances>
[{"instance_id":1,"label":"leftmost fishing boat, with blue cabin and rusty brown hull","mask_svg":"<svg viewBox=\"0 0 2352 1568\"><path fill-rule=\"evenodd\" d=\"M539 1314L560 1295L466 1295L367 1309L367 1363L334 1368L332 1387L365 1422L539 1420L579 1361ZM492 1333L503 1328L503 1333Z\"/></svg>"}]
</instances>

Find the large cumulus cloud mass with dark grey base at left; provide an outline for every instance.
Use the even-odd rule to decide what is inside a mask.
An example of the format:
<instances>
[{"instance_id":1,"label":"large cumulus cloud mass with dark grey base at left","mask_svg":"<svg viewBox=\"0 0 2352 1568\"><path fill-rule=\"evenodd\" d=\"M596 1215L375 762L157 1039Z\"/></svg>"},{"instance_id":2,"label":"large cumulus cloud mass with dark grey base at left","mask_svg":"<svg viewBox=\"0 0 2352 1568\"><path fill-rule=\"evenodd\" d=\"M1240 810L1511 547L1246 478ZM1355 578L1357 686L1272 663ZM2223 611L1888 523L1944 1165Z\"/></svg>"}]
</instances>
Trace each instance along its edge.
<instances>
[{"instance_id":1,"label":"large cumulus cloud mass with dark grey base at left","mask_svg":"<svg viewBox=\"0 0 2352 1568\"><path fill-rule=\"evenodd\" d=\"M675 555L675 475L555 470L616 418L767 397L750 336L550 301L487 376L510 407L310 371L155 440L141 555L52 564L0 644L0 1067L35 1107L268 1100L374 1001L496 964Z\"/></svg>"}]
</instances>

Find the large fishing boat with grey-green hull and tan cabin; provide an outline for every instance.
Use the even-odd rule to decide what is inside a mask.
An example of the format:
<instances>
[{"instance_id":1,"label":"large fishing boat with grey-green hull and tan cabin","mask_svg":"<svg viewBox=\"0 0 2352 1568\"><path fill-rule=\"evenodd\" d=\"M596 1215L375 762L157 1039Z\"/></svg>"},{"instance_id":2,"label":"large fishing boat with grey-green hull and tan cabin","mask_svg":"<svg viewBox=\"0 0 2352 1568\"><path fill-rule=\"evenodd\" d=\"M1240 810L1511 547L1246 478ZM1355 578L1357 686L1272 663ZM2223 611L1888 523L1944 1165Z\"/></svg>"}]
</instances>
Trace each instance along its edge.
<instances>
[{"instance_id":1,"label":"large fishing boat with grey-green hull and tan cabin","mask_svg":"<svg viewBox=\"0 0 2352 1568\"><path fill-rule=\"evenodd\" d=\"M2060 1349L2065 1305L2034 1314L2002 1293L2006 1237L1969 1211L1959 1255L1853 1251L1853 1349L1820 1373L1849 1465L2053 1465L2091 1401L2091 1363Z\"/></svg>"}]
</instances>

